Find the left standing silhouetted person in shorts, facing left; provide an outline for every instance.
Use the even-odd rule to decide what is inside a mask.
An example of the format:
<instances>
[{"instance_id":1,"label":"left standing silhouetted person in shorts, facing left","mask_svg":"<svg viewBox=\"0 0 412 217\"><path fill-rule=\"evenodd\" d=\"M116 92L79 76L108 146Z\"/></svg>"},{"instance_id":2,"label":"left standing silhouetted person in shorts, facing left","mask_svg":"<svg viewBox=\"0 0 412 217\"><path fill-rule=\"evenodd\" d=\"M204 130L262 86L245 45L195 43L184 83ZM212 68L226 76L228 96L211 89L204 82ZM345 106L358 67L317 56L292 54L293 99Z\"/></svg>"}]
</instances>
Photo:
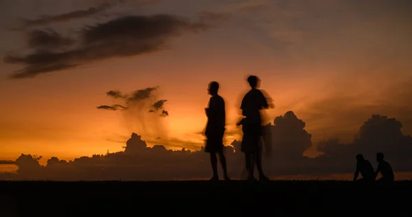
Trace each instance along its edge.
<instances>
[{"instance_id":1,"label":"left standing silhouetted person in shorts, facing left","mask_svg":"<svg viewBox=\"0 0 412 217\"><path fill-rule=\"evenodd\" d=\"M205 130L206 146L205 152L210 153L211 168L213 170L213 177L211 181L218 181L218 157L220 157L220 164L225 173L225 180L229 180L227 176L226 158L223 155L223 135L225 134L226 113L225 100L218 95L218 82L210 82L208 92L211 95L209 100L209 108L205 109L207 116L207 126Z\"/></svg>"}]
</instances>

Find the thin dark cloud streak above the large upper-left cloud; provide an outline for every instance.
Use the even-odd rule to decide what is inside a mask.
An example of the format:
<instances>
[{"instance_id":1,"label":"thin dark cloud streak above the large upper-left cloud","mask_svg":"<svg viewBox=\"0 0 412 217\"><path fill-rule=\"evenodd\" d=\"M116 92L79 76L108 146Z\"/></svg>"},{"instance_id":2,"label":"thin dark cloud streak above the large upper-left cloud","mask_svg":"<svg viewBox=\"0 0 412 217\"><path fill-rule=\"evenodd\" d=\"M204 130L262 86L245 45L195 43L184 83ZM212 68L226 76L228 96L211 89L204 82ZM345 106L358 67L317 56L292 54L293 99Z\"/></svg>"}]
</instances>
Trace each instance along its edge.
<instances>
[{"instance_id":1,"label":"thin dark cloud streak above the large upper-left cloud","mask_svg":"<svg viewBox=\"0 0 412 217\"><path fill-rule=\"evenodd\" d=\"M72 21L73 19L82 19L87 16L95 15L104 10L108 10L108 8L113 7L113 5L104 3L97 7L91 7L87 10L75 10L71 12L67 12L65 14L58 14L58 15L43 15L39 19L25 19L23 20L23 27L34 27L38 25L49 25L52 23L62 23L67 21Z\"/></svg>"}]
</instances>

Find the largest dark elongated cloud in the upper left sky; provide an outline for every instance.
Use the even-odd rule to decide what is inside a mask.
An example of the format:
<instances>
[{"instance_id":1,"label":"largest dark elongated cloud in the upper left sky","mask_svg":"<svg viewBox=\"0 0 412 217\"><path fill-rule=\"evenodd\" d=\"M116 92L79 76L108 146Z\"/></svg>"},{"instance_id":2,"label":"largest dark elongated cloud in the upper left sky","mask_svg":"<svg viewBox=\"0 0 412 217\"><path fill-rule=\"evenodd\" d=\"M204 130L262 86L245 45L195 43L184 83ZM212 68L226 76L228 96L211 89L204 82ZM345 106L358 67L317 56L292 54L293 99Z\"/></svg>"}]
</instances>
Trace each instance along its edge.
<instances>
[{"instance_id":1,"label":"largest dark elongated cloud in the upper left sky","mask_svg":"<svg viewBox=\"0 0 412 217\"><path fill-rule=\"evenodd\" d=\"M54 30L35 30L28 32L27 37L32 52L10 54L5 56L4 61L25 65L10 78L30 78L104 58L158 52L167 47L170 37L179 36L182 32L199 32L208 27L206 23L158 14L124 16L106 23L87 25L79 31L78 38L72 39L64 38ZM71 47L67 49L62 45Z\"/></svg>"}]
</instances>

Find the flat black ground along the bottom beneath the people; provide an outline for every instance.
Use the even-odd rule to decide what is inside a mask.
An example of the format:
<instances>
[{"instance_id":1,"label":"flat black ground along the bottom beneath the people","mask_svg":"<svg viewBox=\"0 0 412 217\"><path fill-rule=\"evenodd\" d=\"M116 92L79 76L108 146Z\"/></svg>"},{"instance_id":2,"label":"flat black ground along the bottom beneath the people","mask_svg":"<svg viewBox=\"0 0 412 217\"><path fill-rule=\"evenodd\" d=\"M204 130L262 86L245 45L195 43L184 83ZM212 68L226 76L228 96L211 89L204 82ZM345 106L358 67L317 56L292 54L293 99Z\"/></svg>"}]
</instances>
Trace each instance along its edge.
<instances>
[{"instance_id":1,"label":"flat black ground along the bottom beneath the people","mask_svg":"<svg viewBox=\"0 0 412 217\"><path fill-rule=\"evenodd\" d=\"M412 216L412 181L0 181L0 216Z\"/></svg>"}]
</instances>

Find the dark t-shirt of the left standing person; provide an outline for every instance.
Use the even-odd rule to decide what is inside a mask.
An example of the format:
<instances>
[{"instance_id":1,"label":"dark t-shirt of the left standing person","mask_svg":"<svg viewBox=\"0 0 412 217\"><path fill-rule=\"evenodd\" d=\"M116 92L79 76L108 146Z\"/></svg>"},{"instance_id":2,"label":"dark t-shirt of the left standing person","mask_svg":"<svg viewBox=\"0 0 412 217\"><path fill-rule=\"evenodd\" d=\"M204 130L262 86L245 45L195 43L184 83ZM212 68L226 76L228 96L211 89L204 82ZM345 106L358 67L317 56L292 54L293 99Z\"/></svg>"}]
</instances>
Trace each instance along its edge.
<instances>
[{"instance_id":1,"label":"dark t-shirt of the left standing person","mask_svg":"<svg viewBox=\"0 0 412 217\"><path fill-rule=\"evenodd\" d=\"M210 98L207 108L206 133L224 131L225 125L225 100L220 95L214 95Z\"/></svg>"}]
</instances>

